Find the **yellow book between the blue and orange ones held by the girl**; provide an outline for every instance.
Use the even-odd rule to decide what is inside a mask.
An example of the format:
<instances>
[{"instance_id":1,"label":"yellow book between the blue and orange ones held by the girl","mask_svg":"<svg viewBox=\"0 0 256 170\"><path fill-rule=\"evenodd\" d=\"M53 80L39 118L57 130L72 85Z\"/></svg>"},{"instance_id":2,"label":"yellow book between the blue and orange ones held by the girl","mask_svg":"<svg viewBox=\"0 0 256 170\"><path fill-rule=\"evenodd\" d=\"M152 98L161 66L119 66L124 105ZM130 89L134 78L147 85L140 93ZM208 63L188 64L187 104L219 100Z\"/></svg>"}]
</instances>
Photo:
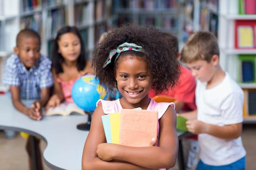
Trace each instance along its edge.
<instances>
[{"instance_id":1,"label":"yellow book between the blue and orange ones held by the girl","mask_svg":"<svg viewBox=\"0 0 256 170\"><path fill-rule=\"evenodd\" d=\"M121 113L110 113L112 144L119 144Z\"/></svg>"}]
</instances>

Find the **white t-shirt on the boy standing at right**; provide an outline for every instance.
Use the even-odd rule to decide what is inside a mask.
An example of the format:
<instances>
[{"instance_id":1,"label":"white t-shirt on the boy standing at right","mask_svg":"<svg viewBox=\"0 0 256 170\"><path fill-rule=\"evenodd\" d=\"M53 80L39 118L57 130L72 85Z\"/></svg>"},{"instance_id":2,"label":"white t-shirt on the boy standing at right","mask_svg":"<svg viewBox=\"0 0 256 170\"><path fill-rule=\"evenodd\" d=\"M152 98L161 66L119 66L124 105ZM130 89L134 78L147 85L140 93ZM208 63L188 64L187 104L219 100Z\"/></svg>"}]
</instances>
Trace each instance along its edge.
<instances>
[{"instance_id":1,"label":"white t-shirt on the boy standing at right","mask_svg":"<svg viewBox=\"0 0 256 170\"><path fill-rule=\"evenodd\" d=\"M226 73L217 86L206 89L207 82L197 81L195 96L198 120L225 126L243 122L244 94L240 86ZM227 140L199 134L200 159L211 166L223 166L245 157L241 137Z\"/></svg>"}]
</instances>

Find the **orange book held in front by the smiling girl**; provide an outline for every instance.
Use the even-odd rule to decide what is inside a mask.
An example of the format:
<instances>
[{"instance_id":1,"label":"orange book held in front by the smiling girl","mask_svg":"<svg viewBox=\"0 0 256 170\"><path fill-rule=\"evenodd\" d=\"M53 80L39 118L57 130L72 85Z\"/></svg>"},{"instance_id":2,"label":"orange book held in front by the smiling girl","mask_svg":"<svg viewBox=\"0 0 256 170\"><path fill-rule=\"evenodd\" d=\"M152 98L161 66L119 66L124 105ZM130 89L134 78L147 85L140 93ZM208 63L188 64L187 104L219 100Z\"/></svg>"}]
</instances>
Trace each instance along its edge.
<instances>
[{"instance_id":1,"label":"orange book held in front by the smiling girl","mask_svg":"<svg viewBox=\"0 0 256 170\"><path fill-rule=\"evenodd\" d=\"M149 146L157 139L157 110L122 109L119 144L125 146Z\"/></svg>"}]
</instances>

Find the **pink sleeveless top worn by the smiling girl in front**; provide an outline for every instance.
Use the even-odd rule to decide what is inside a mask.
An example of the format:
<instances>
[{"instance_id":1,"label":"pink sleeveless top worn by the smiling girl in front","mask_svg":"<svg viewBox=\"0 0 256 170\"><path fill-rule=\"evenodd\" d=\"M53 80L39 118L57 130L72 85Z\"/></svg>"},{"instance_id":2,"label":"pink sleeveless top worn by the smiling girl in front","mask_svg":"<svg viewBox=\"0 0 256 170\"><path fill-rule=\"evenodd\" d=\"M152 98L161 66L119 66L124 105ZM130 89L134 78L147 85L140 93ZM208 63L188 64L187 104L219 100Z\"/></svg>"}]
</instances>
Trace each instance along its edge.
<instances>
[{"instance_id":1,"label":"pink sleeveless top worn by the smiling girl in front","mask_svg":"<svg viewBox=\"0 0 256 170\"><path fill-rule=\"evenodd\" d=\"M120 99L114 100L114 101L107 101L107 100L102 100L99 99L98 102L96 103L96 106L99 106L99 104L102 104L102 109L103 112L107 115L110 113L118 113L121 112L122 106L120 103ZM175 108L175 104L172 103L165 103L165 102L160 102L157 103L154 100L150 99L149 105L147 110L158 110L158 120L164 115L166 110L168 109L169 106L172 106ZM159 121L157 125L157 146L159 146ZM159 170L165 170L165 169L159 169Z\"/></svg>"}]
</instances>

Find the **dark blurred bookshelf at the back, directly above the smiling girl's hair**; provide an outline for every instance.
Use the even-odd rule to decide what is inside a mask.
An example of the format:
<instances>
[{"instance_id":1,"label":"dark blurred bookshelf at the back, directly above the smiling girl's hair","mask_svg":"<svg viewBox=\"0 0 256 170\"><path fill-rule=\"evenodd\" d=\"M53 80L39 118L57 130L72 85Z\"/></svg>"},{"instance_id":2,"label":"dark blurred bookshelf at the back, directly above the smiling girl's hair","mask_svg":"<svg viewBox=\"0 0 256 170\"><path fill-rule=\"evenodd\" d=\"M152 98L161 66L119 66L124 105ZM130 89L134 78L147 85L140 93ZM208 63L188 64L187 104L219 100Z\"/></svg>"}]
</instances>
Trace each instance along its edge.
<instances>
[{"instance_id":1,"label":"dark blurred bookshelf at the back, directly above the smiling girl's hair","mask_svg":"<svg viewBox=\"0 0 256 170\"><path fill-rule=\"evenodd\" d=\"M174 35L180 32L180 0L115 0L114 7L117 26L131 22L139 26L152 25Z\"/></svg>"}]
</instances>

